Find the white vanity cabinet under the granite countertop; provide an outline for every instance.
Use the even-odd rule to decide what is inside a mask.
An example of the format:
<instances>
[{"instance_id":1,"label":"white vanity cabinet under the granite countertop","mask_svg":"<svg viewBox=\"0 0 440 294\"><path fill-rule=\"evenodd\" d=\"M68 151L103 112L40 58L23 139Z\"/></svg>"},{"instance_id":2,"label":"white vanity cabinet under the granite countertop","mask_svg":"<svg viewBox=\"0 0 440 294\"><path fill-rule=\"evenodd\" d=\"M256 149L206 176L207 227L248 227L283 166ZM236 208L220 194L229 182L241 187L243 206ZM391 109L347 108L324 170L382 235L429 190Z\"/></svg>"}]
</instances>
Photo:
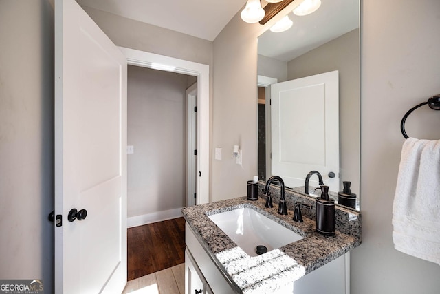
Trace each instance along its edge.
<instances>
[{"instance_id":1,"label":"white vanity cabinet under the granite countertop","mask_svg":"<svg viewBox=\"0 0 440 294\"><path fill-rule=\"evenodd\" d=\"M185 228L185 293L236 293L221 270L186 224ZM349 253L312 271L276 293L349 294ZM212 290L211 290L212 289ZM201 291L201 292L200 292ZM263 294L263 293L261 293ZM274 294L271 292L270 294Z\"/></svg>"}]
</instances>

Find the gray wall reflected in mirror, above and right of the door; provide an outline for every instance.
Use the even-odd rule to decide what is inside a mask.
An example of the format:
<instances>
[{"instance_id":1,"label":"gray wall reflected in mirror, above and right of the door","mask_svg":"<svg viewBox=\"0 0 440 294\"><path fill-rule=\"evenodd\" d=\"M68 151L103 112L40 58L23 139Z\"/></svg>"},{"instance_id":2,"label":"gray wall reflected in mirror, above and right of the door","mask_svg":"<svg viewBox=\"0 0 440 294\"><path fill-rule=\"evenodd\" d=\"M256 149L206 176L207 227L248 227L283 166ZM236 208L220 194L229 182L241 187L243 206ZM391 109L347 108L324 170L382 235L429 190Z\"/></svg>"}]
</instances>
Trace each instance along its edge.
<instances>
[{"instance_id":1,"label":"gray wall reflected in mirror, above and right of the door","mask_svg":"<svg viewBox=\"0 0 440 294\"><path fill-rule=\"evenodd\" d=\"M351 181L359 194L360 185L360 56L359 30L343 34L287 63L287 79L339 71L340 190L342 180Z\"/></svg>"}]
</instances>

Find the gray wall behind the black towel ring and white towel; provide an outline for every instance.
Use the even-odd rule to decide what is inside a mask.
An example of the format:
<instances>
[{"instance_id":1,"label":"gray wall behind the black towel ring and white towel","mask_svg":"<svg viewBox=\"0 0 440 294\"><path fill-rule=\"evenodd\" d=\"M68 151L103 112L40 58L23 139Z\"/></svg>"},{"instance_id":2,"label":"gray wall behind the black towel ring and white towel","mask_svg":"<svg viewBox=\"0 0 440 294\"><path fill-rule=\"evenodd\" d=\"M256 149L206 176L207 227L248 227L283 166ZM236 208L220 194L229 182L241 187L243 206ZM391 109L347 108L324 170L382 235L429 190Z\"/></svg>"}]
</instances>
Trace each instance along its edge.
<instances>
[{"instance_id":1,"label":"gray wall behind the black towel ring and white towel","mask_svg":"<svg viewBox=\"0 0 440 294\"><path fill-rule=\"evenodd\" d=\"M440 1L363 2L362 245L351 255L352 293L439 293L440 266L396 251L391 218L404 142L400 120L440 93ZM423 116L429 124L418 124ZM439 139L439 125L439 113L425 107L411 114L407 131Z\"/></svg>"}]
</instances>

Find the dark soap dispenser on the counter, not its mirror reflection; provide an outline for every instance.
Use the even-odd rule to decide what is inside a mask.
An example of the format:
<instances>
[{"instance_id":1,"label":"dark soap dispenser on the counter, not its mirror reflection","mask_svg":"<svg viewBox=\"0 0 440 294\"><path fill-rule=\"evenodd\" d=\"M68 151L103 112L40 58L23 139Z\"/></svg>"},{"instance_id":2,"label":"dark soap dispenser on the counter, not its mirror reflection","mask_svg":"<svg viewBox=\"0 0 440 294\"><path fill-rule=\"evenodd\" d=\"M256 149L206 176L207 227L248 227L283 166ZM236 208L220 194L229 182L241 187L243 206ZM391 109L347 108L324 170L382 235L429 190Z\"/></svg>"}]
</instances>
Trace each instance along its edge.
<instances>
[{"instance_id":1,"label":"dark soap dispenser on the counter, not its mirror reflection","mask_svg":"<svg viewBox=\"0 0 440 294\"><path fill-rule=\"evenodd\" d=\"M322 235L335 235L335 200L329 196L329 186L321 185L321 197L316 198L316 231Z\"/></svg>"}]
</instances>

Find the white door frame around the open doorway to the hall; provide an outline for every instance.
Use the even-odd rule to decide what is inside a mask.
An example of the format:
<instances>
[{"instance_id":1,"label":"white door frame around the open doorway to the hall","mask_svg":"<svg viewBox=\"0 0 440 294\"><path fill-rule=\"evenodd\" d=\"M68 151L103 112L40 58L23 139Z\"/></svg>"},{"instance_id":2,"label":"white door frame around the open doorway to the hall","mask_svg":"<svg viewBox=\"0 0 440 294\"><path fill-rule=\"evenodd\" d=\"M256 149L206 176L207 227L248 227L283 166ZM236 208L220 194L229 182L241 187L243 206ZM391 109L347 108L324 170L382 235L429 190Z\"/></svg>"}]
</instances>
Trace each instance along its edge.
<instances>
[{"instance_id":1,"label":"white door frame around the open doorway to the hall","mask_svg":"<svg viewBox=\"0 0 440 294\"><path fill-rule=\"evenodd\" d=\"M197 199L209 202L209 65L120 47L128 65L197 77Z\"/></svg>"}]
</instances>

